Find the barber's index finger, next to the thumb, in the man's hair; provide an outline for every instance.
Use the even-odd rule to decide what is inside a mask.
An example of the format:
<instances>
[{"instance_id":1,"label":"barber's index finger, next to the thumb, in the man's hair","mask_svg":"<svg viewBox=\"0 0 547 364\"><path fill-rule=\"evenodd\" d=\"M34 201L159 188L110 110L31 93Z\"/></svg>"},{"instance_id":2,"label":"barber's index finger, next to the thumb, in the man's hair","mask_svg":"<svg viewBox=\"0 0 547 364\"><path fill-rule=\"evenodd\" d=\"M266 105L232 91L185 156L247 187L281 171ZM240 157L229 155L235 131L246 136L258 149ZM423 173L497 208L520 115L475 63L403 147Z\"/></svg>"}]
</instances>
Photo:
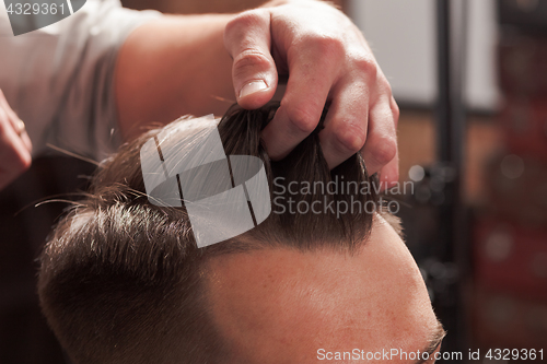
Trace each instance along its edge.
<instances>
[{"instance_id":1,"label":"barber's index finger, next to the thumb, in the man's hair","mask_svg":"<svg viewBox=\"0 0 547 364\"><path fill-rule=\"evenodd\" d=\"M338 62L344 54L338 40L303 39L287 55L289 81L263 140L272 160L287 156L318 125L333 84L338 78Z\"/></svg>"}]
</instances>

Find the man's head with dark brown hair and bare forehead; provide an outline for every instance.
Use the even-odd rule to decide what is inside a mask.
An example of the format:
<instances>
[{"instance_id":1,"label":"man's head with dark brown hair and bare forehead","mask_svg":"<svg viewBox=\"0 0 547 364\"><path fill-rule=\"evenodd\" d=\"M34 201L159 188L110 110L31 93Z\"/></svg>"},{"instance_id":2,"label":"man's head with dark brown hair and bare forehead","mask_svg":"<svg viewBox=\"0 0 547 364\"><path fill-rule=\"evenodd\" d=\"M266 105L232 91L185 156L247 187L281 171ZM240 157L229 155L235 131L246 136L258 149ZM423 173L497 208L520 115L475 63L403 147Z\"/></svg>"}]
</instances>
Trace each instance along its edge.
<instances>
[{"instance_id":1,"label":"man's head with dark brown hair and bare forehead","mask_svg":"<svg viewBox=\"0 0 547 364\"><path fill-rule=\"evenodd\" d=\"M198 248L184 207L149 202L139 152L159 130L103 163L40 259L44 313L75 363L312 363L351 352L337 360L350 363L437 348L426 286L394 218L374 212L361 157L329 172L319 125L269 161L259 134L275 109L232 109L218 126L226 154L264 161L276 201L263 224L228 242ZM165 130L191 136L191 149L196 128L211 127Z\"/></svg>"}]
</instances>

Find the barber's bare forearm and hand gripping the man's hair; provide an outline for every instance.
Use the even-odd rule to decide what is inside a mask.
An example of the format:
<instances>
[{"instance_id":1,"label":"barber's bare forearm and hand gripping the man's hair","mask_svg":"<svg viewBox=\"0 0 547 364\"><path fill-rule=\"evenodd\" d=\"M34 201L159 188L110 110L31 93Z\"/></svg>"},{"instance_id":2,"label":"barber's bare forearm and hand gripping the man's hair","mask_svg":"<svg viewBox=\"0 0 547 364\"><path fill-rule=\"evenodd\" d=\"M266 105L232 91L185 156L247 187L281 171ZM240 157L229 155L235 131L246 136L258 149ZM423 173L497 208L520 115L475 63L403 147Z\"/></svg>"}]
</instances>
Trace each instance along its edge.
<instances>
[{"instance_id":1,"label":"barber's bare forearm and hand gripping the man's hair","mask_svg":"<svg viewBox=\"0 0 547 364\"><path fill-rule=\"evenodd\" d=\"M317 126L330 168L361 151L370 174L398 179L398 108L363 35L322 1L270 1L241 14L171 15L138 27L116 67L121 131L181 115L253 109L289 74L281 107L263 132L268 155L288 155ZM246 87L248 86L248 87Z\"/></svg>"}]
</instances>

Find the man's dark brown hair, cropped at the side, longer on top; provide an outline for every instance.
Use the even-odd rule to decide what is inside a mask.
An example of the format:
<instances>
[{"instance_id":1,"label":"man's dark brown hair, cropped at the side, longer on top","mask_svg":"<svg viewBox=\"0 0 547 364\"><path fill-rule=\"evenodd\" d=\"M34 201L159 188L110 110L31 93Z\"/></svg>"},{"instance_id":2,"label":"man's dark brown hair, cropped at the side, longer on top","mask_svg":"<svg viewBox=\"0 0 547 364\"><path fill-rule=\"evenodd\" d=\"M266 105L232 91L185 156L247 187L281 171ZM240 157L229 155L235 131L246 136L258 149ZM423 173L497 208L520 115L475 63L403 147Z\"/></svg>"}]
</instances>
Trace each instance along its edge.
<instances>
[{"instance_id":1,"label":"man's dark brown hair, cropped at the side, longer on top","mask_svg":"<svg viewBox=\"0 0 547 364\"><path fill-rule=\"evenodd\" d=\"M289 156L270 161L260 131L277 107L245 110L233 106L218 125L226 155L264 161L272 198L278 177L284 183L375 183L359 154L328 169L318 139L325 113L316 130ZM230 357L230 348L209 317L201 280L207 259L275 247L353 254L365 244L372 213L291 214L279 213L272 206L269 218L254 230L198 248L184 207L149 202L139 160L147 140L184 122L190 121L179 119L165 129L151 130L102 163L86 198L48 238L39 260L40 304L75 364L221 363L221 357ZM187 148L193 145L188 141ZM317 191L291 198L309 204L325 199L377 203L373 188L368 193L352 192Z\"/></svg>"}]
</instances>

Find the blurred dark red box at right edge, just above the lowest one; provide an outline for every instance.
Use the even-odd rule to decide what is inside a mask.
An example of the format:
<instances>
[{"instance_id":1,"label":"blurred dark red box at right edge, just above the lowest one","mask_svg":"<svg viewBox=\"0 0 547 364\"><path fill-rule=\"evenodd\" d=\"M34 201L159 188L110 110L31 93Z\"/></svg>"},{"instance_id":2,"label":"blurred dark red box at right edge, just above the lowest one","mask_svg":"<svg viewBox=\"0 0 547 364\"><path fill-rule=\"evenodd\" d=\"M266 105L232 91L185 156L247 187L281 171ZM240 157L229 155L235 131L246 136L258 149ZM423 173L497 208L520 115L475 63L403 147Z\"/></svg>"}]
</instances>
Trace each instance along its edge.
<instances>
[{"instance_id":1,"label":"blurred dark red box at right edge, just above the lowest one","mask_svg":"<svg viewBox=\"0 0 547 364\"><path fill-rule=\"evenodd\" d=\"M474 228L475 281L547 303L547 230L486 219Z\"/></svg>"}]
</instances>

